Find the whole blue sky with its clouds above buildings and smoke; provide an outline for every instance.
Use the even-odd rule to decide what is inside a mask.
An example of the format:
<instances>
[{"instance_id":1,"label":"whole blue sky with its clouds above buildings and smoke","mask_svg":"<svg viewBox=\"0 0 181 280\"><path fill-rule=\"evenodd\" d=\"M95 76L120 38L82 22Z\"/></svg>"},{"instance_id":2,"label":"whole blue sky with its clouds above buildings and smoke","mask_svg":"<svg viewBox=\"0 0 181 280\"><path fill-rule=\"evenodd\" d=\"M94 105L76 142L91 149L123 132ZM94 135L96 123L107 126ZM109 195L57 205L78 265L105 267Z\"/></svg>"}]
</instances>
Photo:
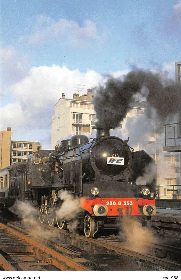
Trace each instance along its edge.
<instances>
[{"instance_id":1,"label":"whole blue sky with its clouds above buildings and smoke","mask_svg":"<svg viewBox=\"0 0 181 280\"><path fill-rule=\"evenodd\" d=\"M1 0L0 5L1 130L12 126L13 138L30 137L44 148L50 145L54 104L61 92L72 96L73 83L84 84L86 92L102 75L118 76L133 67L168 71L174 78L174 62L181 60L178 0Z\"/></svg>"}]
</instances>

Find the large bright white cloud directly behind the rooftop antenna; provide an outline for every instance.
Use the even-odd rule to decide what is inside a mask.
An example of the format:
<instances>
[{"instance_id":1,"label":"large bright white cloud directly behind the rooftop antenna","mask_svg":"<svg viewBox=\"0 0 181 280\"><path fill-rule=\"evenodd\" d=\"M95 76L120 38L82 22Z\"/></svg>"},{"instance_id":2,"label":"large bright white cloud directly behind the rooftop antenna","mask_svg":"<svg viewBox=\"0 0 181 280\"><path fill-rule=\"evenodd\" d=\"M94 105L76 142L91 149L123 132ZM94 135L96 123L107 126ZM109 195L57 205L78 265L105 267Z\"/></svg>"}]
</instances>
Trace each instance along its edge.
<instances>
[{"instance_id":1,"label":"large bright white cloud directly behind the rooftop antenna","mask_svg":"<svg viewBox=\"0 0 181 280\"><path fill-rule=\"evenodd\" d=\"M86 92L97 85L100 79L101 75L93 70L81 73L78 69L70 71L65 66L41 66L31 68L29 75L12 85L11 90L23 104L31 104L36 113L54 106L62 92L72 98L74 83L84 84Z\"/></svg>"}]
</instances>

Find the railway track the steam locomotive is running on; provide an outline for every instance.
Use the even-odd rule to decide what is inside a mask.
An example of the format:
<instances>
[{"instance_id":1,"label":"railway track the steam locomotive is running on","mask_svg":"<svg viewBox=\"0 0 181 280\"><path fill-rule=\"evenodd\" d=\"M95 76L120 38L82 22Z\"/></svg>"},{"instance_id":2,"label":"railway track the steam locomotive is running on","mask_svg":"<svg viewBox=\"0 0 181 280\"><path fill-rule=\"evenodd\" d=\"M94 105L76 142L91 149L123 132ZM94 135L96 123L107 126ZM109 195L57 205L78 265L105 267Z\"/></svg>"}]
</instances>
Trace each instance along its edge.
<instances>
[{"instance_id":1,"label":"railway track the steam locomotive is running on","mask_svg":"<svg viewBox=\"0 0 181 280\"><path fill-rule=\"evenodd\" d=\"M61 251L68 255L69 259L81 263L87 270L181 270L180 248L145 244L149 253L143 254L124 248L116 238L87 239L42 224L43 232L47 231L46 238L42 237L40 232L32 234L32 230L27 231L22 225L20 228L17 223L8 223L9 226L31 238L33 236L33 239L47 244L53 250Z\"/></svg>"}]
</instances>

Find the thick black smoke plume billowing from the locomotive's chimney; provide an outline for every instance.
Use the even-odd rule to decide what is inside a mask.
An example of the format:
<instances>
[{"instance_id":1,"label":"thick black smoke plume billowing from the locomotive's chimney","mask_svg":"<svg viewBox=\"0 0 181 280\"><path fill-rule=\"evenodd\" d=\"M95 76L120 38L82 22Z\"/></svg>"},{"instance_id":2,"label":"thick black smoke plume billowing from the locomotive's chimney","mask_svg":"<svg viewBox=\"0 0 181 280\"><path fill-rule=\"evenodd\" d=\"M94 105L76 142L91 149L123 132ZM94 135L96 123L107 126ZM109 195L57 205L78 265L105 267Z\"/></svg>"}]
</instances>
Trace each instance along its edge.
<instances>
[{"instance_id":1,"label":"thick black smoke plume billowing from the locomotive's chimney","mask_svg":"<svg viewBox=\"0 0 181 280\"><path fill-rule=\"evenodd\" d=\"M124 80L110 77L105 86L94 89L94 108L97 127L115 129L126 113L133 107L135 94L139 93L148 102L147 113L156 110L163 120L168 115L181 112L181 85L164 81L159 74L131 71Z\"/></svg>"}]
</instances>

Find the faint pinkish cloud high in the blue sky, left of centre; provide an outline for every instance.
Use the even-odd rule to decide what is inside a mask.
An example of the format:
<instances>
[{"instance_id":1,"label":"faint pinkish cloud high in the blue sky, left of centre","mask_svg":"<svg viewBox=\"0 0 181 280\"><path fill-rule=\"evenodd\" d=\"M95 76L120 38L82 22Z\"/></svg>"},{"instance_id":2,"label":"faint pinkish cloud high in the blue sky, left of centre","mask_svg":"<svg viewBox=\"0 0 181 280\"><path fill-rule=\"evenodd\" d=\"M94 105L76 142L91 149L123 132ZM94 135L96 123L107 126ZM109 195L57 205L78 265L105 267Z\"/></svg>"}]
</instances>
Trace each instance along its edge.
<instances>
[{"instance_id":1,"label":"faint pinkish cloud high in the blue sky, left of centre","mask_svg":"<svg viewBox=\"0 0 181 280\"><path fill-rule=\"evenodd\" d=\"M61 18L57 22L45 15L37 15L34 34L29 37L29 43L42 44L52 40L61 44L70 43L73 46L86 46L98 38L97 26L90 20L85 20L83 26L74 20Z\"/></svg>"}]
</instances>

